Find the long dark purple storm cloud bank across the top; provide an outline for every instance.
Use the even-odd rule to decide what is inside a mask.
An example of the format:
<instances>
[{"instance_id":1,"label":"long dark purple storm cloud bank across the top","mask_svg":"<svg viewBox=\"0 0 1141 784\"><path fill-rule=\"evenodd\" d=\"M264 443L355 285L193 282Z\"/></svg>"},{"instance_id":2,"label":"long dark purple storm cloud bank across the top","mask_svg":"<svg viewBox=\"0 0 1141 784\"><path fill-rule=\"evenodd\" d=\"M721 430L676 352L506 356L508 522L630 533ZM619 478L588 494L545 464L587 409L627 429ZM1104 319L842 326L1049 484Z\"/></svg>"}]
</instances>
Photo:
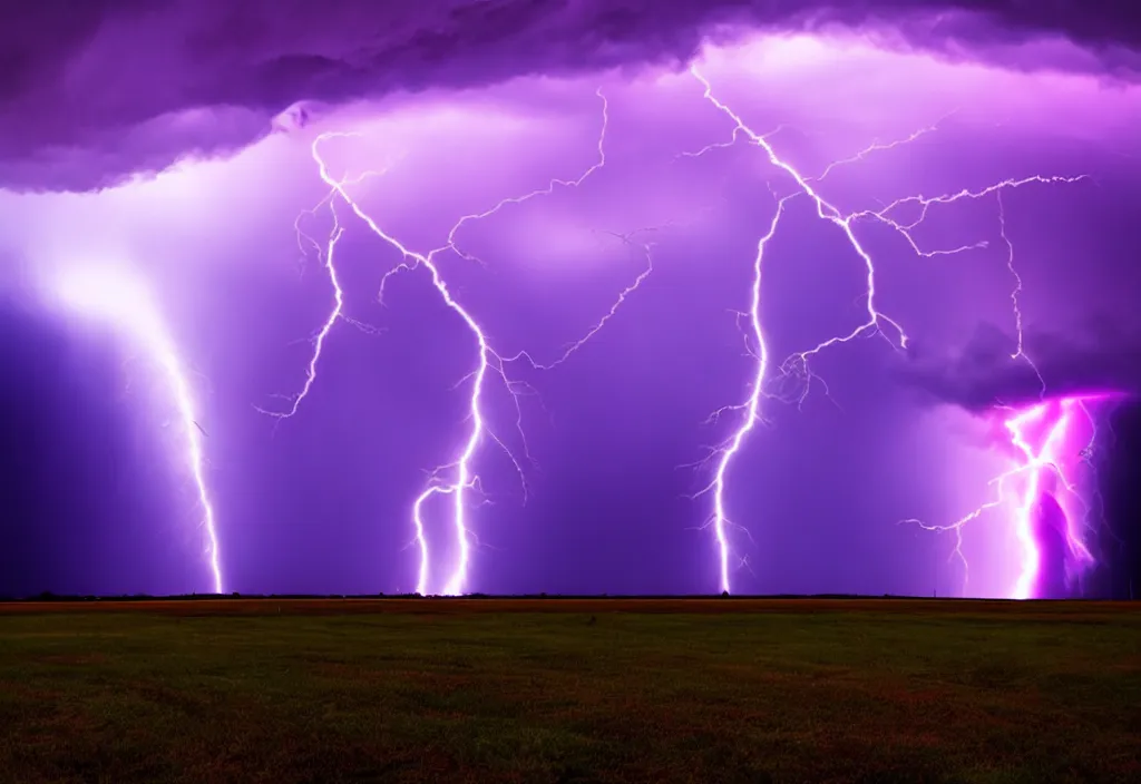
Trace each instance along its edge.
<instances>
[{"instance_id":1,"label":"long dark purple storm cloud bank across the top","mask_svg":"<svg viewBox=\"0 0 1141 784\"><path fill-rule=\"evenodd\" d=\"M827 24L957 52L1069 38L1117 71L1139 11L1086 0L2 0L0 186L94 189L254 141L302 101L689 58L707 34ZM948 11L968 11L970 15ZM969 47L968 47L969 48ZM1070 67L1091 67L1067 62ZM187 109L226 107L191 119Z\"/></svg>"}]
</instances>

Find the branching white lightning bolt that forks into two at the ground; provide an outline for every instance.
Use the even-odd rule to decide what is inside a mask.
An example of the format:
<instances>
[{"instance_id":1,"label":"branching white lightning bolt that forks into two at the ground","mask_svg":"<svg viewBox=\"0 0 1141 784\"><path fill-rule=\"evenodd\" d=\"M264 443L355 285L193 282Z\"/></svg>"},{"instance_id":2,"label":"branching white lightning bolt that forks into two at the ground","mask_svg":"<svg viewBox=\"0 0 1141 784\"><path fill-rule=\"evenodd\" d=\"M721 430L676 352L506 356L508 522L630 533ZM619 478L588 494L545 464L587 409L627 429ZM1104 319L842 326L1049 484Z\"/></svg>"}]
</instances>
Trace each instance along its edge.
<instances>
[{"instance_id":1,"label":"branching white lightning bolt that forks into two at the ground","mask_svg":"<svg viewBox=\"0 0 1141 784\"><path fill-rule=\"evenodd\" d=\"M387 272L381 280L380 293L378 299L382 302L385 295L385 286L393 275L400 271L411 271L418 267L423 267L428 270L429 277L431 279L432 286L439 293L444 303L463 321L468 332L471 334L472 338L477 345L477 361L475 369L468 374L461 383L464 381L470 381L471 392L468 399L468 422L470 423L470 430L468 431L467 439L462 442L459 449L459 456L451 463L438 466L430 473L430 480L428 487L415 498L412 505L412 522L415 530L414 541L420 549L420 563L418 567L416 587L415 590L419 594L429 593L429 580L431 572L431 558L429 553L428 539L427 539L427 504L430 499L437 496L447 496L452 501L451 507L451 522L452 529L458 544L458 557L455 566L453 567L450 577L445 581L440 593L447 595L461 594L466 589L468 583L468 570L470 562L470 539L472 537L471 531L468 525L468 513L467 503L468 493L477 491L479 488L479 476L475 471L474 463L476 458L477 450L480 446L482 440L491 438L495 443L497 443L510 457L516 469L518 471L520 477L523 477L524 471L519 462L511 454L510 449L505 443L494 433L487 422L487 416L483 408L483 399L486 391L486 382L488 374L495 374L503 382L508 393L511 395L516 405L516 410L518 414L516 420L516 427L519 430L520 436L523 436L521 430L521 409L519 403L520 394L520 383L512 381L507 374L507 366L515 361L526 361L531 366L537 369L551 369L561 362L564 362L572 353L577 351L582 345L593 338L607 324L607 321L616 313L622 303L625 302L626 297L636 291L650 275L653 271L653 259L650 255L650 245L642 245L646 254L647 267L639 273L632 284L620 292L618 297L614 305L605 313L601 319L594 324L591 329L580 340L569 344L563 353L553 361L543 364L534 360L532 356L526 351L520 351L513 356L504 357L499 353L492 345L487 337L485 329L480 326L474 313L461 304L453 295L451 288L448 287L444 275L439 267L439 258L444 253L454 253L461 259L469 261L479 261L474 255L462 250L458 242L458 234L468 223L485 220L495 215L504 207L510 205L518 205L528 202L539 196L551 195L556 191L556 188L574 188L581 186L591 177L594 172L602 169L606 164L606 134L609 124L609 106L606 96L601 90L597 91L597 96L602 104L602 123L601 131L598 137L598 160L592 164L586 171L584 171L580 177L575 179L552 179L545 188L533 190L523 196L512 196L504 198L491 209L478 213L471 213L462 215L448 230L445 244L431 250L428 253L419 253L405 246L397 238L385 231L379 222L370 215L361 203L354 198L349 193L348 187L355 182L361 181L364 177L372 174L373 172L366 172L365 174L354 179L354 180L337 180L334 179L330 171L329 165L321 153L321 147L326 141L346 136L355 136L355 133L347 132L326 132L322 133L314 139L311 145L311 156L314 162L317 164L318 173L321 179L325 185L330 187L330 194L342 201L353 213L378 237L380 237L390 247L395 248L400 254L400 261ZM319 205L318 205L319 206ZM337 240L340 238L343 227L339 222L334 223L333 232L330 235L330 240L327 247L324 251L325 267L329 272L332 286L334 288L334 308L329 315L326 321L324 322L322 329L317 333L317 337L314 342L314 352L310 358L308 366L308 373L306 376L306 384L302 386L301 392L292 399L292 406L290 410L283 415L278 416L292 416L296 414L298 406L301 400L306 397L310 390L315 376L316 376L316 364L319 360L319 354L322 346L324 345L324 340L329 334L329 330L337 321L338 318L343 318L341 313L341 305L343 302L343 293L337 279L335 268L333 267L333 254L335 251ZM621 240L625 243L631 243L630 237L634 232L628 232L624 235L616 235ZM311 243L311 240L310 240ZM523 436L524 447L526 448L526 438ZM445 477L446 476L446 477Z\"/></svg>"}]
</instances>

